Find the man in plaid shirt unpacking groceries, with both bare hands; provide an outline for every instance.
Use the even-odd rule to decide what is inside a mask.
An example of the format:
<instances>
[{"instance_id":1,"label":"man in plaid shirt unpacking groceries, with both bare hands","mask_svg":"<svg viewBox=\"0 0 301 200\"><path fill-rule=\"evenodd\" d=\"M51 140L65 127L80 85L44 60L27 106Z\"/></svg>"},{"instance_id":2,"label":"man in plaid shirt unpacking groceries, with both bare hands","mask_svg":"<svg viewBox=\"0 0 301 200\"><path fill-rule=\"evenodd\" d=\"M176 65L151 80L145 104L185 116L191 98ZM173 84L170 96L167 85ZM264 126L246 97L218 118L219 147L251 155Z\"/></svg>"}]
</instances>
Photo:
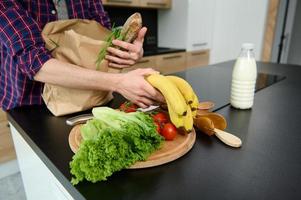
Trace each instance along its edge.
<instances>
[{"instance_id":1,"label":"man in plaid shirt unpacking groceries, with both bare hands","mask_svg":"<svg viewBox=\"0 0 301 200\"><path fill-rule=\"evenodd\" d=\"M43 27L65 18L96 20L110 28L101 0L3 0L0 1L0 107L9 110L23 105L42 104L43 83L78 89L114 91L140 107L162 96L144 76L156 73L138 69L111 74L85 69L51 57L41 37ZM109 48L109 65L126 68L143 55L146 28L133 44L114 40L124 51Z\"/></svg>"}]
</instances>

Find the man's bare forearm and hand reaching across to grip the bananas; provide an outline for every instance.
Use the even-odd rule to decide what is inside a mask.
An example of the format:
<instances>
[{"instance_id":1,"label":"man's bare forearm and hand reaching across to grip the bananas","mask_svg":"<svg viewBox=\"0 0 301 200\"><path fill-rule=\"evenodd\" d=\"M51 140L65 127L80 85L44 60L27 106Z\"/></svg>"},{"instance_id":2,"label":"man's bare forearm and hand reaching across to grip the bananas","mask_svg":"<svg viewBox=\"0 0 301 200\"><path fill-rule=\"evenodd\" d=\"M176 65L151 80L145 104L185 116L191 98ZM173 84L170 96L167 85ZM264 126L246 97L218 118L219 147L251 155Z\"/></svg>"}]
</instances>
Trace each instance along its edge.
<instances>
[{"instance_id":1,"label":"man's bare forearm and hand reaching across to grip the bananas","mask_svg":"<svg viewBox=\"0 0 301 200\"><path fill-rule=\"evenodd\" d=\"M154 73L159 72L144 68L128 73L107 73L52 58L45 62L34 79L68 88L118 92L139 107L146 108L165 101L161 93L145 80L147 75Z\"/></svg>"}]
</instances>

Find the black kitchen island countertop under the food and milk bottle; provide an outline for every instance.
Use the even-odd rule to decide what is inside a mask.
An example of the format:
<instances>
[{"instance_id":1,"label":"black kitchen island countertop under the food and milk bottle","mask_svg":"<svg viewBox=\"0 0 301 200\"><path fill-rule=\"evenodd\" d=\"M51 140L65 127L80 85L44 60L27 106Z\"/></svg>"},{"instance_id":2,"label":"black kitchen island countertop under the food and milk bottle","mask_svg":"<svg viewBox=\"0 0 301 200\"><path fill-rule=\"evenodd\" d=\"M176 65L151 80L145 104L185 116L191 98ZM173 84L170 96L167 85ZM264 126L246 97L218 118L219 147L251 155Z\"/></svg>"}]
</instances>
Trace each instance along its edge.
<instances>
[{"instance_id":1,"label":"black kitchen island countertop under the food and milk bottle","mask_svg":"<svg viewBox=\"0 0 301 200\"><path fill-rule=\"evenodd\" d=\"M257 64L258 71L280 76L255 94L250 110L228 105L233 61L177 73L201 101L216 102L216 112L227 119L226 130L242 139L241 148L197 132L193 149L180 159L122 170L105 182L71 185L71 127L65 124L70 116L25 106L9 111L8 119L75 199L301 199L301 66ZM117 107L122 100L109 105Z\"/></svg>"}]
</instances>

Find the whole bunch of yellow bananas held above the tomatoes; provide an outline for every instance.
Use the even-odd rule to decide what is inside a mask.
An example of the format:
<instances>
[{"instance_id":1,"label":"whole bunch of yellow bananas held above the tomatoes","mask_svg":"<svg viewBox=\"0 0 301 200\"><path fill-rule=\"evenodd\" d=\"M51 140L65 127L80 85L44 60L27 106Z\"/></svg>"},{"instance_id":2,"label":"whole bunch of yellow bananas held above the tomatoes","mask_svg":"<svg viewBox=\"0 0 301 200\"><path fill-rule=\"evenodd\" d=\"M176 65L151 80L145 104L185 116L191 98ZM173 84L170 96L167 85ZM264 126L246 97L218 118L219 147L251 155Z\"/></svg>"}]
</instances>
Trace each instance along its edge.
<instances>
[{"instance_id":1,"label":"whole bunch of yellow bananas held above the tomatoes","mask_svg":"<svg viewBox=\"0 0 301 200\"><path fill-rule=\"evenodd\" d=\"M193 128L199 100L192 87L177 76L152 74L146 80L164 96L171 122L189 133Z\"/></svg>"}]
</instances>

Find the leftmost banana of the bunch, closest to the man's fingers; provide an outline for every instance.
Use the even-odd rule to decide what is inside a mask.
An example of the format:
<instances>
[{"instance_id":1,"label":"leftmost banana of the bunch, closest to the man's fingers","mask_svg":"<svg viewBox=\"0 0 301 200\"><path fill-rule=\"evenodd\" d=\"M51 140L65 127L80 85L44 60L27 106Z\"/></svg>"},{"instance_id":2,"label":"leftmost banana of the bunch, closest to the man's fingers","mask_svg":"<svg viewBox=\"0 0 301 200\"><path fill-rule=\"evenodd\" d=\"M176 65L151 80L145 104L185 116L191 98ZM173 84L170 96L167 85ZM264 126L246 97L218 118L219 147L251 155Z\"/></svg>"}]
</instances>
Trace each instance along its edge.
<instances>
[{"instance_id":1,"label":"leftmost banana of the bunch, closest to the man's fingers","mask_svg":"<svg viewBox=\"0 0 301 200\"><path fill-rule=\"evenodd\" d=\"M176 114L186 115L187 105L185 99L173 82L160 74L149 75L146 80L163 94Z\"/></svg>"}]
</instances>

